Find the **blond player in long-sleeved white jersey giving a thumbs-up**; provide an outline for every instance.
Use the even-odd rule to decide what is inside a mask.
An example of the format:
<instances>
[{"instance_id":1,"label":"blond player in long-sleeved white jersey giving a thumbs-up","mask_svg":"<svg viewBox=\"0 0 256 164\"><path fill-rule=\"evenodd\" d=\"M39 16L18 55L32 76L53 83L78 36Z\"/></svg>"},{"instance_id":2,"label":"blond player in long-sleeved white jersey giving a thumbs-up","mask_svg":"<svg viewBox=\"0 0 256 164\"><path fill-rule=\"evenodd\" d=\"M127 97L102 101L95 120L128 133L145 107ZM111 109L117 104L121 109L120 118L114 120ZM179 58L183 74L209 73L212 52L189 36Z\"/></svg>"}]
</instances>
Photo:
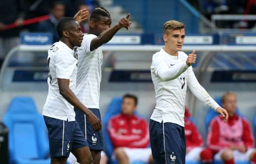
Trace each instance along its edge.
<instances>
[{"instance_id":1,"label":"blond player in long-sleeved white jersey giving a thumbs-up","mask_svg":"<svg viewBox=\"0 0 256 164\"><path fill-rule=\"evenodd\" d=\"M205 104L228 119L228 113L199 84L191 64L196 62L195 50L181 52L185 38L184 24L164 24L165 46L153 55L151 76L156 92L156 108L150 118L150 143L154 164L185 164L184 106L187 85Z\"/></svg>"}]
</instances>

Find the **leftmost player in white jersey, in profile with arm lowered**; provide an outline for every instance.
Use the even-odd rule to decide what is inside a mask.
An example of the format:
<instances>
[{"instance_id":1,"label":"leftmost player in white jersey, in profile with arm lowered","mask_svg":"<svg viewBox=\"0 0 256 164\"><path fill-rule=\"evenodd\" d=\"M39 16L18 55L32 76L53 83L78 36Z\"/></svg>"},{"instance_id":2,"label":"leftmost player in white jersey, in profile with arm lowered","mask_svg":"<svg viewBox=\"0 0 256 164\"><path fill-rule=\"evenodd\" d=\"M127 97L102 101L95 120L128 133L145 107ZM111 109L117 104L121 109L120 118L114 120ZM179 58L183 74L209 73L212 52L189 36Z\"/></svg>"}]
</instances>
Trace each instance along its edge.
<instances>
[{"instance_id":1,"label":"leftmost player in white jersey, in profile with arm lowered","mask_svg":"<svg viewBox=\"0 0 256 164\"><path fill-rule=\"evenodd\" d=\"M57 25L57 32L60 40L48 51L49 92L43 109L51 164L66 164L70 152L80 164L91 164L91 152L78 122L75 121L73 109L73 106L80 109L88 116L95 130L100 130L100 120L74 94L77 54L73 49L81 46L84 34L74 18L62 18Z\"/></svg>"}]
</instances>

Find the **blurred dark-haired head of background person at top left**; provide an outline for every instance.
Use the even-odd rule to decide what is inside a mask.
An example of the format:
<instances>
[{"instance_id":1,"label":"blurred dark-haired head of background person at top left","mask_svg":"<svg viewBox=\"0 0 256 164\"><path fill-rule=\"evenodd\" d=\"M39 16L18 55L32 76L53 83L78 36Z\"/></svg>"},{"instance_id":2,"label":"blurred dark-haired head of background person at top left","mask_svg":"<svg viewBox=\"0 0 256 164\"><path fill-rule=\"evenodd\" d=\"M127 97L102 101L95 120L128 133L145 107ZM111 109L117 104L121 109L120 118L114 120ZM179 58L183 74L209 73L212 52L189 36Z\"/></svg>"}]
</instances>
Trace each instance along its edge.
<instances>
[{"instance_id":1,"label":"blurred dark-haired head of background person at top left","mask_svg":"<svg viewBox=\"0 0 256 164\"><path fill-rule=\"evenodd\" d=\"M50 12L59 20L65 15L65 4L62 1L53 1Z\"/></svg>"}]
</instances>

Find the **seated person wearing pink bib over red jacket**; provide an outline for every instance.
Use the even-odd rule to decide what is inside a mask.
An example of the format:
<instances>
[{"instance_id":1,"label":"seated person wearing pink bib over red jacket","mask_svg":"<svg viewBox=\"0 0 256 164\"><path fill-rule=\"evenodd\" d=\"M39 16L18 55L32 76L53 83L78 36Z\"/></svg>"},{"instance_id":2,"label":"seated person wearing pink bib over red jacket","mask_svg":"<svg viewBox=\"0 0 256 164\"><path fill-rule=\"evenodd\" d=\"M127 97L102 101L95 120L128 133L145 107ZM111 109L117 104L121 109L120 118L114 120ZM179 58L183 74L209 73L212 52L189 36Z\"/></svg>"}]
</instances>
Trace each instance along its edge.
<instances>
[{"instance_id":1,"label":"seated person wearing pink bib over red jacket","mask_svg":"<svg viewBox=\"0 0 256 164\"><path fill-rule=\"evenodd\" d=\"M208 128L207 146L212 149L215 160L224 164L234 164L235 161L251 161L256 164L254 138L248 121L236 114L237 97L233 92L222 96L223 107L228 112L228 121L216 116Z\"/></svg>"}]
</instances>

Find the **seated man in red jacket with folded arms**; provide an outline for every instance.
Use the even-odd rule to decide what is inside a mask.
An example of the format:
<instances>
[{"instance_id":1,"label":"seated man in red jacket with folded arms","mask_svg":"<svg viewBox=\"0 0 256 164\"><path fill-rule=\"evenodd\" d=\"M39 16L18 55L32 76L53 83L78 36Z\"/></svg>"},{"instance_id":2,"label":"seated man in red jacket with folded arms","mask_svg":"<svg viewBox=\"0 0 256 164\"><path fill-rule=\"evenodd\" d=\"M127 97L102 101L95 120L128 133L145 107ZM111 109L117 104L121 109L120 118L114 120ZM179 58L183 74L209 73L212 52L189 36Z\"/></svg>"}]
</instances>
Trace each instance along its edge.
<instances>
[{"instance_id":1,"label":"seated man in red jacket with folded arms","mask_svg":"<svg viewBox=\"0 0 256 164\"><path fill-rule=\"evenodd\" d=\"M137 97L125 94L122 100L122 113L110 118L108 132L114 147L113 158L119 164L133 161L153 162L147 121L134 115Z\"/></svg>"}]
</instances>

